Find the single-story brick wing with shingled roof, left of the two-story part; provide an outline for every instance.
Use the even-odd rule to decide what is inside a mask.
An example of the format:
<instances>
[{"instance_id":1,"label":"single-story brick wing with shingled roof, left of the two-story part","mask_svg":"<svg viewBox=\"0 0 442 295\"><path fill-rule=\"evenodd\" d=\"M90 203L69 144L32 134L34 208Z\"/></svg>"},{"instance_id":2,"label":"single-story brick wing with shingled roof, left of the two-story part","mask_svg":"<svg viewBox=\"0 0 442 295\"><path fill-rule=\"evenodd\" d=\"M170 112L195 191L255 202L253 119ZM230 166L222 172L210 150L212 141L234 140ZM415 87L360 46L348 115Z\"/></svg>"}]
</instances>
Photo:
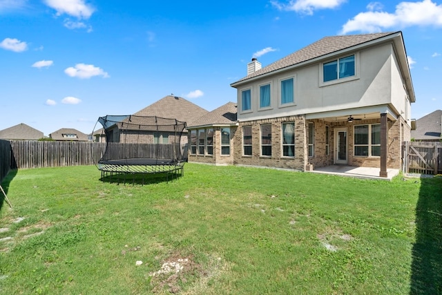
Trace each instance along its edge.
<instances>
[{"instance_id":1,"label":"single-story brick wing with shingled roof, left of the two-story part","mask_svg":"<svg viewBox=\"0 0 442 295\"><path fill-rule=\"evenodd\" d=\"M189 162L234 164L231 138L237 129L236 103L228 102L191 122Z\"/></svg>"}]
</instances>

